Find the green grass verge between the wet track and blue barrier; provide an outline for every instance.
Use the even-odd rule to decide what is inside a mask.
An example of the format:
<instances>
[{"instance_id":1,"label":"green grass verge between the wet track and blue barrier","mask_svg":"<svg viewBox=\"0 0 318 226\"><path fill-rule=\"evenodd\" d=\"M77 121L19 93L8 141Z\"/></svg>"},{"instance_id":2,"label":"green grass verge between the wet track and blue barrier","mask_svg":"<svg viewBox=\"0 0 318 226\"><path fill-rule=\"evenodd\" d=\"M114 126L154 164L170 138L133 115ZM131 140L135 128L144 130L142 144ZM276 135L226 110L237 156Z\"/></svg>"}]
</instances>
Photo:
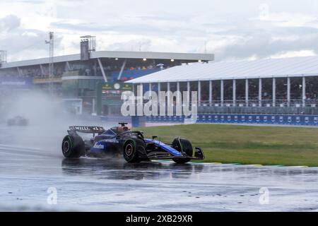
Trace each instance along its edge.
<instances>
[{"instance_id":1,"label":"green grass verge between the wet track and blue barrier","mask_svg":"<svg viewBox=\"0 0 318 226\"><path fill-rule=\"evenodd\" d=\"M318 166L318 129L191 124L138 128L171 143L188 138L204 150L204 162Z\"/></svg>"}]
</instances>

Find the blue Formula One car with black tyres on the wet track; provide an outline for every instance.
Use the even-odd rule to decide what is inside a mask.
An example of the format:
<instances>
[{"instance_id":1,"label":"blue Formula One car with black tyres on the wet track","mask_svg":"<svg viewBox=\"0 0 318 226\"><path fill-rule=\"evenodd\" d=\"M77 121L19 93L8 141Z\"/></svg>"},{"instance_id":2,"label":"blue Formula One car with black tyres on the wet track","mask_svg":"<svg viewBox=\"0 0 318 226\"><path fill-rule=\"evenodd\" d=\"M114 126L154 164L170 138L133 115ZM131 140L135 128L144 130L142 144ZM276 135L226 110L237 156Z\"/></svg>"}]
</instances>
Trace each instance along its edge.
<instances>
[{"instance_id":1,"label":"blue Formula One car with black tyres on the wet track","mask_svg":"<svg viewBox=\"0 0 318 226\"><path fill-rule=\"evenodd\" d=\"M100 126L70 126L61 150L66 158L81 156L104 157L107 154L122 154L126 162L172 159L177 163L203 160L201 148L192 148L184 138L175 138L171 144L156 140L157 136L144 138L142 131L131 131L126 123L119 123L105 130ZM84 140L78 133L93 133L90 140Z\"/></svg>"}]
</instances>

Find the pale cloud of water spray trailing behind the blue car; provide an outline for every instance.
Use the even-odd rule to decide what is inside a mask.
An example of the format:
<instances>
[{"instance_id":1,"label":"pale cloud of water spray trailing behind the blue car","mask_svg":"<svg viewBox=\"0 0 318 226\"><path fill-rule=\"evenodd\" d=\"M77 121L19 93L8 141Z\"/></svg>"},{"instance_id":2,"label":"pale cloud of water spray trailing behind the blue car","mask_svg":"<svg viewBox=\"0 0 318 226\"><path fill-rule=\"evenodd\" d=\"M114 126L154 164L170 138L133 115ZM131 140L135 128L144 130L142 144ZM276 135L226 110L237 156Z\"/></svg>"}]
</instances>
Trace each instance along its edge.
<instances>
[{"instance_id":1,"label":"pale cloud of water spray trailing behind the blue car","mask_svg":"<svg viewBox=\"0 0 318 226\"><path fill-rule=\"evenodd\" d=\"M23 95L11 97L10 102L4 123L11 134L8 134L10 139L6 143L59 153L62 131L70 121L76 121L64 111L61 100L40 91L26 91ZM49 141L45 138L47 133L50 134ZM37 138L37 142L29 141L30 136Z\"/></svg>"}]
</instances>

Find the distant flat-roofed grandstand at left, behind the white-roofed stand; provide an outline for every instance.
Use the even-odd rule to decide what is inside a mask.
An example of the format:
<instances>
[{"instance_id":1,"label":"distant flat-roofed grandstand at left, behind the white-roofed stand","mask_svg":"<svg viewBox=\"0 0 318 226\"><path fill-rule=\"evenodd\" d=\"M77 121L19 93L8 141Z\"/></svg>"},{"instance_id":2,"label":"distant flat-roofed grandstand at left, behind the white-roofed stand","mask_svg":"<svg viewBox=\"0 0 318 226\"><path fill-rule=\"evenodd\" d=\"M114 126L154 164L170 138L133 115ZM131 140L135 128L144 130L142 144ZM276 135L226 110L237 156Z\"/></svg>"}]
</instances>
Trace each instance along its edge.
<instances>
[{"instance_id":1,"label":"distant flat-roofed grandstand at left, behind the white-roofed stand","mask_svg":"<svg viewBox=\"0 0 318 226\"><path fill-rule=\"evenodd\" d=\"M2 62L0 66L0 90L10 89L11 81L18 83L33 79L32 89L52 91L67 101L83 103L81 109L88 114L95 113L98 105L98 88L103 83L123 83L149 73L163 71L172 66L198 61L213 61L213 54L187 54L168 52L119 52L82 51L89 43L81 41L81 54L59 57ZM54 63L54 68L49 65ZM52 75L50 75L50 70ZM112 96L113 98L108 98ZM115 96L115 97L114 97ZM111 102L120 103L118 93L104 93L99 103L100 114L110 113ZM105 111L103 111L105 109Z\"/></svg>"}]
</instances>

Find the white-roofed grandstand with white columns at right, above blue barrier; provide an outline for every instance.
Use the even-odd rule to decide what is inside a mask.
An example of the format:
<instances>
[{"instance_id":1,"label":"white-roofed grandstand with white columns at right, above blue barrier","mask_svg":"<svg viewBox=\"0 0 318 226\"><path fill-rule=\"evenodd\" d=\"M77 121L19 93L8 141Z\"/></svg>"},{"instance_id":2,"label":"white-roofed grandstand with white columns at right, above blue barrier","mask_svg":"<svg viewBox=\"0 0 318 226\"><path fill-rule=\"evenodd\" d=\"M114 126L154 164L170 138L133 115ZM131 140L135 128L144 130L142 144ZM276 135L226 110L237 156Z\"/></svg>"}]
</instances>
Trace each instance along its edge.
<instances>
[{"instance_id":1,"label":"white-roofed grandstand with white columns at right, above blue barrier","mask_svg":"<svg viewBox=\"0 0 318 226\"><path fill-rule=\"evenodd\" d=\"M318 114L318 57L180 65L129 83L197 91L199 114Z\"/></svg>"}]
</instances>

